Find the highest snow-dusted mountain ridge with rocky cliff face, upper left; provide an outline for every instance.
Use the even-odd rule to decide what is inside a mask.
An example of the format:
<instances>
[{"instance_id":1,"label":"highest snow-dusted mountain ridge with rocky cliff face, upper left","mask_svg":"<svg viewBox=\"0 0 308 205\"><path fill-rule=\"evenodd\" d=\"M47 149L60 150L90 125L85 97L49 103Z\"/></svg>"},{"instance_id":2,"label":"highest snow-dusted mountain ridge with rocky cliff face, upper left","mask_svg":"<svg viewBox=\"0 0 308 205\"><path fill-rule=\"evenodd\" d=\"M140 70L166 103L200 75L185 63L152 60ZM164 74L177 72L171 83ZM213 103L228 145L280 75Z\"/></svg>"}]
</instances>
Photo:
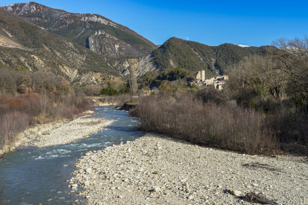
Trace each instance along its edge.
<instances>
[{"instance_id":1,"label":"highest snow-dusted mountain ridge with rocky cliff face, upper left","mask_svg":"<svg viewBox=\"0 0 308 205\"><path fill-rule=\"evenodd\" d=\"M140 57L157 48L135 31L98 14L69 13L35 2L14 3L0 8L106 56Z\"/></svg>"}]
</instances>

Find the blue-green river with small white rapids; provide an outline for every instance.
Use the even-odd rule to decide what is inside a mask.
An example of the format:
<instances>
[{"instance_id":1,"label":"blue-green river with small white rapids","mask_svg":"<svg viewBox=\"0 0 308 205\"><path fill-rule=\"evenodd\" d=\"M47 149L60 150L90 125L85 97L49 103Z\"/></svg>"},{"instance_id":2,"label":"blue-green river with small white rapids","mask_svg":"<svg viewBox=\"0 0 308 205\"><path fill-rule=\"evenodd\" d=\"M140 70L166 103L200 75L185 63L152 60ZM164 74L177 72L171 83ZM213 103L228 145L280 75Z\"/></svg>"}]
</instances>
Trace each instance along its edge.
<instances>
[{"instance_id":1,"label":"blue-green river with small white rapids","mask_svg":"<svg viewBox=\"0 0 308 205\"><path fill-rule=\"evenodd\" d=\"M90 151L121 141L132 141L144 135L135 129L138 119L112 106L97 106L93 118L114 119L108 130L65 145L44 148L30 147L4 155L0 161L0 182L4 185L5 204L83 204L76 192L71 192L66 180L76 168L76 159ZM68 166L63 166L64 164ZM78 187L80 190L80 186ZM74 202L79 199L79 202Z\"/></svg>"}]
</instances>

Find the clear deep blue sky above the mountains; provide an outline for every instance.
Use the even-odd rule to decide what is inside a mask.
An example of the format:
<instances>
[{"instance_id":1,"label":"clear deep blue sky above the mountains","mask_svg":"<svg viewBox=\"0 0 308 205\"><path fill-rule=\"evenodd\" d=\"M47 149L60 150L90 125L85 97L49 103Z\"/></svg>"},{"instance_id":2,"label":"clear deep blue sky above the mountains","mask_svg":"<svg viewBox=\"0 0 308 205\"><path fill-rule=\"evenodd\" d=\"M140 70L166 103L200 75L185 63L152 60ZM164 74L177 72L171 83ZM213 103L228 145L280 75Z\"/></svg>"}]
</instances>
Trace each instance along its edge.
<instances>
[{"instance_id":1,"label":"clear deep blue sky above the mountains","mask_svg":"<svg viewBox=\"0 0 308 205\"><path fill-rule=\"evenodd\" d=\"M17 0L18 1L18 0ZM28 1L20 1L28 2ZM308 34L308 1L37 0L73 13L95 13L125 25L155 44L170 37L207 45L261 46ZM1 0L0 5L17 3Z\"/></svg>"}]
</instances>

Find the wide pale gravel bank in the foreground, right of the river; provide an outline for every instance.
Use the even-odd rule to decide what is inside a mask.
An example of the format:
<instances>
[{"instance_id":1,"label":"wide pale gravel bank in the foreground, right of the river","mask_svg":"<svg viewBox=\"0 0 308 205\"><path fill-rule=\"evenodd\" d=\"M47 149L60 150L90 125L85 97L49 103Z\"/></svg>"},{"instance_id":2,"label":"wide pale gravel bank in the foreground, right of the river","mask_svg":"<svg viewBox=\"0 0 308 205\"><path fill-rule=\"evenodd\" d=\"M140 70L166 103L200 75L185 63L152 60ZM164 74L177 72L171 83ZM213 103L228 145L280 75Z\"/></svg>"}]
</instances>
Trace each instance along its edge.
<instances>
[{"instance_id":1,"label":"wide pale gravel bank in the foreground, right of the river","mask_svg":"<svg viewBox=\"0 0 308 205\"><path fill-rule=\"evenodd\" d=\"M250 191L308 204L306 157L250 156L146 134L88 152L75 166L69 183L85 188L78 193L87 204L249 204L241 196Z\"/></svg>"}]
</instances>

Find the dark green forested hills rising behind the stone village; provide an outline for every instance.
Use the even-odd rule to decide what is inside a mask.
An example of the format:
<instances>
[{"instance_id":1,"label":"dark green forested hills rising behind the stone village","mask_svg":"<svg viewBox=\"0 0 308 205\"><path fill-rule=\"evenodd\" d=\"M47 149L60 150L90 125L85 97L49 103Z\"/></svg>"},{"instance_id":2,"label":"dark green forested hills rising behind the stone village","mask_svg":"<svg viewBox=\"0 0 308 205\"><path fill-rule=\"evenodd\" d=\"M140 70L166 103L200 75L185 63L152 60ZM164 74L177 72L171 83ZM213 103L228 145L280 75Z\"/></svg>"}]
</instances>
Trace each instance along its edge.
<instances>
[{"instance_id":1,"label":"dark green forested hills rising behind the stone village","mask_svg":"<svg viewBox=\"0 0 308 205\"><path fill-rule=\"evenodd\" d=\"M266 53L267 46L241 47L225 43L209 46L195 41L172 37L152 52L152 63L157 70L180 65L190 71L205 70L208 77L228 74L230 66L245 56Z\"/></svg>"}]
</instances>

